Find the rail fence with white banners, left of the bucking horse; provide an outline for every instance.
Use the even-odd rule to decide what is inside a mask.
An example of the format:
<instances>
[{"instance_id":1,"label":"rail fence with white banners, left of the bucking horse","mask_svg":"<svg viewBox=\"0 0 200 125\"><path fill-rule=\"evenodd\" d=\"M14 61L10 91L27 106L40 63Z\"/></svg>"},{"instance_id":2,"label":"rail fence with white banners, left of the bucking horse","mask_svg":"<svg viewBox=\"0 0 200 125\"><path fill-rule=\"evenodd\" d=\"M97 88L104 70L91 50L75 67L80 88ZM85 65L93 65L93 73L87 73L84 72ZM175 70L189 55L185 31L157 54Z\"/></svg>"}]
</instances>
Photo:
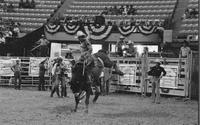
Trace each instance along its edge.
<instances>
[{"instance_id":1,"label":"rail fence with white banners, left of the bucking horse","mask_svg":"<svg viewBox=\"0 0 200 125\"><path fill-rule=\"evenodd\" d=\"M11 67L16 60L20 60L22 67L22 87L37 87L39 84L39 63L46 59L46 57L0 57L0 86L13 86L14 73ZM52 60L48 58L48 70L45 74L45 86L51 86L51 65ZM70 75L70 60L64 59L64 62L69 68Z\"/></svg>"}]
</instances>

